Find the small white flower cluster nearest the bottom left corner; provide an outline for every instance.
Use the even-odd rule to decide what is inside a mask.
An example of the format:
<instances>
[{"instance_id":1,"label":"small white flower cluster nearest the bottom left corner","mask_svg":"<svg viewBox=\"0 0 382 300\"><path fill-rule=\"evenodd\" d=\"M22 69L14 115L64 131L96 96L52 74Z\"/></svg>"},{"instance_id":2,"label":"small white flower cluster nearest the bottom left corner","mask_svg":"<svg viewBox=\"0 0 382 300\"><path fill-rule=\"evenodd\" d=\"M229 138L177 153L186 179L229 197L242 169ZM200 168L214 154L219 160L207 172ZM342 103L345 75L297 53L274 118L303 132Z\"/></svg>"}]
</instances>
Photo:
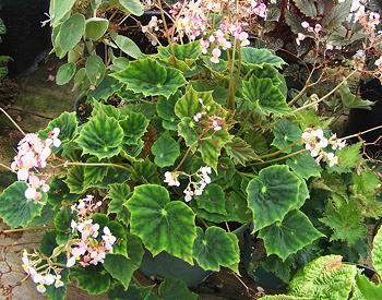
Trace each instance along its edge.
<instances>
[{"instance_id":1,"label":"small white flower cluster nearest the bottom left corner","mask_svg":"<svg viewBox=\"0 0 382 300\"><path fill-rule=\"evenodd\" d=\"M53 264L48 264L48 266L44 269L38 267L41 263L43 259L39 257L38 253L28 254L26 250L23 252L22 257L22 267L25 273L31 276L33 281L37 284L37 291L45 292L46 286L55 285L55 288L60 288L63 286L63 281L61 280L60 268L53 266Z\"/></svg>"}]
</instances>

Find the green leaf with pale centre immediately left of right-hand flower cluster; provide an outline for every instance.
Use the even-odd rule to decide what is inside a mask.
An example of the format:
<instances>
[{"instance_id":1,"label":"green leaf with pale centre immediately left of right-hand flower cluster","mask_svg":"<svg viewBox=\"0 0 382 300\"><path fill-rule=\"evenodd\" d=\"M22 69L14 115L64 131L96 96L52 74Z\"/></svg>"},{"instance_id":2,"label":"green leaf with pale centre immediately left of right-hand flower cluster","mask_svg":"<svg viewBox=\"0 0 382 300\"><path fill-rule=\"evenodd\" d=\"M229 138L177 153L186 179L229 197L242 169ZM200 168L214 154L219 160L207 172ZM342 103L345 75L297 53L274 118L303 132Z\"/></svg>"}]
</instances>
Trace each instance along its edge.
<instances>
[{"instance_id":1,"label":"green leaf with pale centre immediately left of right-hand flower cluster","mask_svg":"<svg viewBox=\"0 0 382 300\"><path fill-rule=\"evenodd\" d=\"M289 146L291 143L300 140L302 135L302 131L289 120L282 120L280 122L278 122L273 128L272 132L275 136L275 139L272 142L272 145L274 145L278 149L283 149ZM291 147L285 149L284 152L290 153Z\"/></svg>"}]
</instances>

